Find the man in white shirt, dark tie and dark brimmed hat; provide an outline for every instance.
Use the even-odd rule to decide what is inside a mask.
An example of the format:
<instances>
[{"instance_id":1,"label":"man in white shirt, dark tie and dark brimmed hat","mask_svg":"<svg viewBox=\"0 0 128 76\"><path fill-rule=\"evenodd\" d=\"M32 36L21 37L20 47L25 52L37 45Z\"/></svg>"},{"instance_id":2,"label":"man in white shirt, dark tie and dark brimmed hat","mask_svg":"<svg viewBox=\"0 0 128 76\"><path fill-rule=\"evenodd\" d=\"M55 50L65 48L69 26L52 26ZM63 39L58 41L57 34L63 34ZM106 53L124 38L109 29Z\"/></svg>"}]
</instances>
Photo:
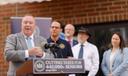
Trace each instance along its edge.
<instances>
[{"instance_id":1,"label":"man in white shirt, dark tie and dark brimmed hat","mask_svg":"<svg viewBox=\"0 0 128 76\"><path fill-rule=\"evenodd\" d=\"M74 58L82 58L85 62L85 73L76 74L76 76L95 76L99 69L99 54L98 49L94 44L89 43L87 40L90 33L86 28L80 28L78 31L78 44L72 47ZM82 45L82 47L81 47ZM82 48L81 55L80 49Z\"/></svg>"}]
</instances>

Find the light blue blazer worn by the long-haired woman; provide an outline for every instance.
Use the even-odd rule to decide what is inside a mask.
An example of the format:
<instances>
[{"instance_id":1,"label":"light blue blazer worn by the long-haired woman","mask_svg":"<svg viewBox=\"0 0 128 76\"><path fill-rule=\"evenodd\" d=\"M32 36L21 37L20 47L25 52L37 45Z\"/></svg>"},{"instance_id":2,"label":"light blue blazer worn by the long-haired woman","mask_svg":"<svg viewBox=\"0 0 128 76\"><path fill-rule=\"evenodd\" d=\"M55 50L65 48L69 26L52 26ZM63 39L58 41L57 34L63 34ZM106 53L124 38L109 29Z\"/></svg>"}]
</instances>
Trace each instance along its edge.
<instances>
[{"instance_id":1,"label":"light blue blazer worn by the long-haired woman","mask_svg":"<svg viewBox=\"0 0 128 76\"><path fill-rule=\"evenodd\" d=\"M110 54L111 49L103 55L101 68L105 76L110 74ZM128 48L124 48L123 52L119 49L114 56L112 65L112 76L128 76Z\"/></svg>"}]
</instances>

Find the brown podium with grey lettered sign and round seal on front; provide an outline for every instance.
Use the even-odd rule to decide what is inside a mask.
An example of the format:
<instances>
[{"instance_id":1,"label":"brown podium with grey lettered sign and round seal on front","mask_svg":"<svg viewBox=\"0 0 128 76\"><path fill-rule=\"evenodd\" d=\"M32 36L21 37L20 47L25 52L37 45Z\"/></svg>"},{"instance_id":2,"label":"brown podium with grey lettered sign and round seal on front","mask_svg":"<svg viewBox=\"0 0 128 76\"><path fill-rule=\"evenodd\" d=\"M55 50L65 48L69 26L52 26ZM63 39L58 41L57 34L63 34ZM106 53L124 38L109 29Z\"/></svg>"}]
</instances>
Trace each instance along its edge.
<instances>
[{"instance_id":1,"label":"brown podium with grey lettered sign and round seal on front","mask_svg":"<svg viewBox=\"0 0 128 76\"><path fill-rule=\"evenodd\" d=\"M78 60L73 60L73 61L77 63L76 61ZM44 76L65 76L70 72L71 73L84 73L85 71L84 65L81 65L81 64L84 64L84 61L82 61L82 63L79 62L80 64L78 63L81 68L79 70L75 69L74 72L72 72L73 70L71 70L69 67L70 63L73 65L70 59L33 59L33 60L26 61L19 68L17 68L16 76L43 76L43 75ZM56 68L54 67L56 65L58 66L61 65L64 67ZM76 67L77 65L75 64L74 66ZM41 68L41 67L45 67L45 68ZM65 67L68 69L66 69ZM55 70L53 71L53 68L56 69L56 71Z\"/></svg>"}]
</instances>

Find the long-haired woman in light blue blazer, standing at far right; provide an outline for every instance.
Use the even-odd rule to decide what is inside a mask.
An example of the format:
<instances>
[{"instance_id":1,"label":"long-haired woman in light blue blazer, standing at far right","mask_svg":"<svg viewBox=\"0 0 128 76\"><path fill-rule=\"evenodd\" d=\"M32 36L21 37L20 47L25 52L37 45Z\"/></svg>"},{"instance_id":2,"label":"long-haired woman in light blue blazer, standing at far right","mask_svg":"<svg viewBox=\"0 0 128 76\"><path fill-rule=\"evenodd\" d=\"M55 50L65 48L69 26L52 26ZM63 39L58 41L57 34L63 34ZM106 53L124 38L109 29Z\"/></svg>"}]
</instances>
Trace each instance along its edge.
<instances>
[{"instance_id":1,"label":"long-haired woman in light blue blazer, standing at far right","mask_svg":"<svg viewBox=\"0 0 128 76\"><path fill-rule=\"evenodd\" d=\"M105 76L128 76L128 48L119 32L111 38L111 48L103 55L101 68Z\"/></svg>"}]
</instances>

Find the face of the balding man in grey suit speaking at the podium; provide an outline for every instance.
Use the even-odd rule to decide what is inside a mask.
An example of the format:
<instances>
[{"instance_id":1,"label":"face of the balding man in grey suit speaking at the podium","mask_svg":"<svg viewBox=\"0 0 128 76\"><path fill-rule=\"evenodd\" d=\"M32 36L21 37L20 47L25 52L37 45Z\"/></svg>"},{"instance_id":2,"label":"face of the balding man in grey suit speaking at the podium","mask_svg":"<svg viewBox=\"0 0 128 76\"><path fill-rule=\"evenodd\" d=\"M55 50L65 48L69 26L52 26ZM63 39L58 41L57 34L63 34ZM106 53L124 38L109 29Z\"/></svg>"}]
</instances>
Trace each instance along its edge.
<instances>
[{"instance_id":1,"label":"face of the balding man in grey suit speaking at the podium","mask_svg":"<svg viewBox=\"0 0 128 76\"><path fill-rule=\"evenodd\" d=\"M35 30L35 19L32 16L25 16L22 19L22 32L31 36Z\"/></svg>"}]
</instances>

